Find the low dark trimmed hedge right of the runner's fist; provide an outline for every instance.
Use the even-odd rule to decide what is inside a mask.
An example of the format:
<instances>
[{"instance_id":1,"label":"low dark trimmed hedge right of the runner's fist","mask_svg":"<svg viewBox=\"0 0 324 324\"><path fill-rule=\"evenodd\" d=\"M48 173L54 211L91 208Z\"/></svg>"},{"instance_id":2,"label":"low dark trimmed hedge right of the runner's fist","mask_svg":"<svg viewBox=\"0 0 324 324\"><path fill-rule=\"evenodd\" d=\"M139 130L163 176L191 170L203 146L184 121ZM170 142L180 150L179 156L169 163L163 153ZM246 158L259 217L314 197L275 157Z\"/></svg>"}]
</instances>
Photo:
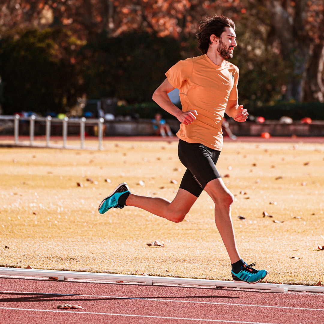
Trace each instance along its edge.
<instances>
[{"instance_id":1,"label":"low dark trimmed hedge right of the runner's fist","mask_svg":"<svg viewBox=\"0 0 324 324\"><path fill-rule=\"evenodd\" d=\"M248 107L250 115L262 116L265 119L280 119L282 116L300 120L309 117L313 120L324 120L324 104L320 102L280 103L274 106Z\"/></svg>"}]
</instances>

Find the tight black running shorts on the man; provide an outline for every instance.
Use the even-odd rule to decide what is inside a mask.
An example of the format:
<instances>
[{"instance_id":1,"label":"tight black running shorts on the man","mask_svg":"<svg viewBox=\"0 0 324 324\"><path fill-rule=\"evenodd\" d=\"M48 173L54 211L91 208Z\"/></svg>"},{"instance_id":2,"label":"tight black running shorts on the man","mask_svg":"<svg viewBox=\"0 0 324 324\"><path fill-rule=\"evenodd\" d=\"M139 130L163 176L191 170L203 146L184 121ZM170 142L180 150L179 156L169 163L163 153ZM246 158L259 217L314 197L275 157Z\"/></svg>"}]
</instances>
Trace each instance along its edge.
<instances>
[{"instance_id":1,"label":"tight black running shorts on the man","mask_svg":"<svg viewBox=\"0 0 324 324\"><path fill-rule=\"evenodd\" d=\"M220 153L203 144L187 143L179 139L178 156L187 168L180 188L199 197L209 181L221 178L215 167Z\"/></svg>"}]
</instances>

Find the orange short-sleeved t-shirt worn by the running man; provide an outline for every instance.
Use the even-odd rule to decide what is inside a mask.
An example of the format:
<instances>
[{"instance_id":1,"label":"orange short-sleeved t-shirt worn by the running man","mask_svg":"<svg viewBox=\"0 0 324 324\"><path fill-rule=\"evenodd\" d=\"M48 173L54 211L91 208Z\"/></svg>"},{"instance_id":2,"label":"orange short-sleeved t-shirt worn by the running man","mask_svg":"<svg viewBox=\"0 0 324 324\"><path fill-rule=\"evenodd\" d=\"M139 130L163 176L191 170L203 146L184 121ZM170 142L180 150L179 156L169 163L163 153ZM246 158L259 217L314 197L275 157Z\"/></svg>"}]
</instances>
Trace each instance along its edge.
<instances>
[{"instance_id":1,"label":"orange short-sleeved t-shirt worn by the running man","mask_svg":"<svg viewBox=\"0 0 324 324\"><path fill-rule=\"evenodd\" d=\"M180 125L177 136L221 151L227 100L238 98L238 67L227 61L216 65L205 54L179 61L165 75L179 89L182 111L197 110L198 114L191 125Z\"/></svg>"}]
</instances>

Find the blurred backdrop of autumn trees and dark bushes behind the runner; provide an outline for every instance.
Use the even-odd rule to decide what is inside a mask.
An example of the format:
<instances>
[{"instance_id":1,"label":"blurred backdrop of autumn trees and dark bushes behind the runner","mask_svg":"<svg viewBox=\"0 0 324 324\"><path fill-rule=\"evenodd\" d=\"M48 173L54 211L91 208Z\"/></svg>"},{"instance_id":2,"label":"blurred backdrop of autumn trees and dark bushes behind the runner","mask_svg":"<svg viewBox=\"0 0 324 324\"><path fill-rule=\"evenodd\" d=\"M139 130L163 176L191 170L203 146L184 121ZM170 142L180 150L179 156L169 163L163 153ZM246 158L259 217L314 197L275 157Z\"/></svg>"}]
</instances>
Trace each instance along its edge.
<instances>
[{"instance_id":1,"label":"blurred backdrop of autumn trees and dark bushes behind the runner","mask_svg":"<svg viewBox=\"0 0 324 324\"><path fill-rule=\"evenodd\" d=\"M0 0L1 105L150 102L169 67L201 55L199 21L215 14L236 23L240 103L324 102L323 10L324 0Z\"/></svg>"}]
</instances>

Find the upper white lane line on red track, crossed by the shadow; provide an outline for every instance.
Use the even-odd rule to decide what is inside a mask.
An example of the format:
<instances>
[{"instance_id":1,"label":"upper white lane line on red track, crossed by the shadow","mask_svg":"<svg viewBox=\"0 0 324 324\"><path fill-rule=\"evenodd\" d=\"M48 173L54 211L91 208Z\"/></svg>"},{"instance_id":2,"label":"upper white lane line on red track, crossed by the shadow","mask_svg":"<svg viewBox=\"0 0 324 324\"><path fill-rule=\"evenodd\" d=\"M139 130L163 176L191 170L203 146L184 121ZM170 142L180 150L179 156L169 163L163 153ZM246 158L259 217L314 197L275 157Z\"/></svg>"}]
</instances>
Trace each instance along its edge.
<instances>
[{"instance_id":1,"label":"upper white lane line on red track, crossed by the shadow","mask_svg":"<svg viewBox=\"0 0 324 324\"><path fill-rule=\"evenodd\" d=\"M303 308L303 307L287 307L287 306L268 306L268 305L251 305L251 304L230 304L230 303L216 303L216 302L197 302L191 300L170 300L170 299L156 299L156 298L140 298L140 297L120 297L120 296L100 296L100 295L78 295L78 294L54 294L54 293L31 293L26 291L3 291L0 293L17 293L17 294L30 294L30 295L64 295L64 296L80 296L80 297L101 297L101 298L118 298L118 299L139 299L139 300L153 300L163 302L174 302L174 303L192 303L192 304L212 304L212 305L226 305L226 306L249 306L249 307L266 307L266 308L286 308L286 309L300 309L300 310L321 310L324 308ZM1 296L1 295L0 295ZM192 296L196 297L196 296ZM204 296L202 296L203 298ZM188 296L187 298L190 298ZM1 298L0 298L1 302Z\"/></svg>"}]
</instances>

